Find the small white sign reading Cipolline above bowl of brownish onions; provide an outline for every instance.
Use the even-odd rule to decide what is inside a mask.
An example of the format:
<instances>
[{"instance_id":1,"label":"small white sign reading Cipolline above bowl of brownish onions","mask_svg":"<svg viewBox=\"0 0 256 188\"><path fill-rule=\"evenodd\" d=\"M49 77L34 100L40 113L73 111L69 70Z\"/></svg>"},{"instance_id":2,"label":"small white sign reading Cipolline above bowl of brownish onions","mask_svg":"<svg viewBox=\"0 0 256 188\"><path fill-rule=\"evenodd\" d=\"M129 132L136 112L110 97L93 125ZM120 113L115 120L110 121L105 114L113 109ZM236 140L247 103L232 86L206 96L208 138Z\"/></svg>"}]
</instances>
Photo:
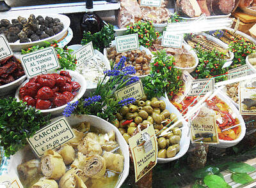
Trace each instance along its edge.
<instances>
[{"instance_id":1,"label":"small white sign reading Cipolline above bowl of brownish onions","mask_svg":"<svg viewBox=\"0 0 256 188\"><path fill-rule=\"evenodd\" d=\"M137 50L139 48L138 33L127 34L125 36L115 37L116 52L126 52L129 50Z\"/></svg>"}]
</instances>

